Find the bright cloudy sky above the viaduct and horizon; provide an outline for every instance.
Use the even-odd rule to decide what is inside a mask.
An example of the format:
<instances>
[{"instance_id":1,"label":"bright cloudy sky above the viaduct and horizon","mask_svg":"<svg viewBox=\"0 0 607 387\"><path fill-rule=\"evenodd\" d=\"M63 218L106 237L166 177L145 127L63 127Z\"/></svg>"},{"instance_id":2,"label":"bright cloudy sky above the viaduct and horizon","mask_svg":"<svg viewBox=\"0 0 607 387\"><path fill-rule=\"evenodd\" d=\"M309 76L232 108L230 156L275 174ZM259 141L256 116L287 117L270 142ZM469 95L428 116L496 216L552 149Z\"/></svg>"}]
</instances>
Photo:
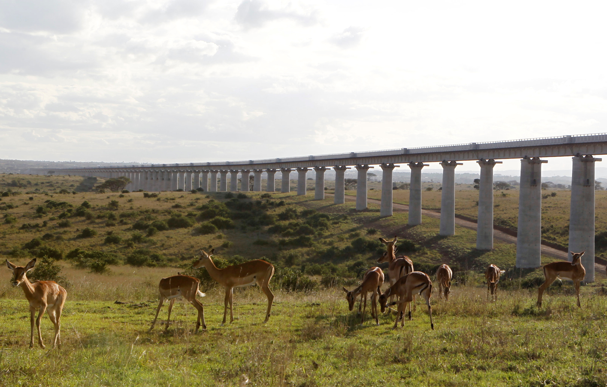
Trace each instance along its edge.
<instances>
[{"instance_id":1,"label":"bright cloudy sky above the viaduct and horizon","mask_svg":"<svg viewBox=\"0 0 607 387\"><path fill-rule=\"evenodd\" d=\"M0 158L186 163L607 132L605 7L0 0Z\"/></svg>"}]
</instances>

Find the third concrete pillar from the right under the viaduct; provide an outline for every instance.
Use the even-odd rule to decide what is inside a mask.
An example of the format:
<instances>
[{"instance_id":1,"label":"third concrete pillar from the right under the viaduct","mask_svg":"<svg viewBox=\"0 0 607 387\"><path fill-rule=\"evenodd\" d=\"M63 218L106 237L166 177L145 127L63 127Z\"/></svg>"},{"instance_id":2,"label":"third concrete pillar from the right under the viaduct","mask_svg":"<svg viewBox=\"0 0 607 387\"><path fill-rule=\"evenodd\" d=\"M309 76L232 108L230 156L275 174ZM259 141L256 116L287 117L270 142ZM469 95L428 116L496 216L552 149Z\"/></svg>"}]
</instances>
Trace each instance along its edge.
<instances>
[{"instance_id":1,"label":"third concrete pillar from the right under the viaduct","mask_svg":"<svg viewBox=\"0 0 607 387\"><path fill-rule=\"evenodd\" d=\"M479 160L481 183L478 184L478 227L476 249L493 250L493 167L501 161Z\"/></svg>"}]
</instances>

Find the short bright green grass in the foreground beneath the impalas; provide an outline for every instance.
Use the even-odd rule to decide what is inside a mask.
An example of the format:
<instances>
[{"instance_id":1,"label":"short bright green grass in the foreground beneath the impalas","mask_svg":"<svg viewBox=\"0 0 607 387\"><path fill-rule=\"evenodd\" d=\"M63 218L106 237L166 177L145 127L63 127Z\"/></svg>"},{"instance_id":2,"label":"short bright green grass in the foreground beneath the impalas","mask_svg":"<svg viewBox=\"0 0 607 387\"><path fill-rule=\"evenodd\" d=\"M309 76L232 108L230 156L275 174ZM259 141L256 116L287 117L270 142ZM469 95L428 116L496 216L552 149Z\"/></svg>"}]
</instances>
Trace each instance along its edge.
<instances>
[{"instance_id":1,"label":"short bright green grass in the foreground beneath the impalas","mask_svg":"<svg viewBox=\"0 0 607 387\"><path fill-rule=\"evenodd\" d=\"M148 333L155 303L66 303L63 346L29 349L25 300L2 300L1 385L36 386L599 386L607 382L605 297L548 295L544 309L535 292L453 288L448 302L432 300L435 331L418 303L413 320L392 330L359 326L341 291L277 294L272 317L259 289L237 292L236 320L220 327L219 292L205 301L208 331L192 334L195 311L175 303L169 331ZM166 319L166 306L159 321ZM166 321L166 320L165 320ZM45 317L46 343L52 325Z\"/></svg>"}]
</instances>

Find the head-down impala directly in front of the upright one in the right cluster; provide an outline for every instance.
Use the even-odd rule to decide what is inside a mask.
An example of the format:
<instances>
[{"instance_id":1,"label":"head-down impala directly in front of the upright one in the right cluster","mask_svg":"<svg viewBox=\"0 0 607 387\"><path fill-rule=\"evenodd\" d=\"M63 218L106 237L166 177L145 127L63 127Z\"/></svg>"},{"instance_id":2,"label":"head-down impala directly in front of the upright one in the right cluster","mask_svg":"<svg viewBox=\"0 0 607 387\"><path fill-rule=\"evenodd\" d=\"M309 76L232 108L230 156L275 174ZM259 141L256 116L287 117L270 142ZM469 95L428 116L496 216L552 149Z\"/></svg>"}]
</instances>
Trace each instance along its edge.
<instances>
[{"instance_id":1,"label":"head-down impala directly in front of the upright one in the right cluster","mask_svg":"<svg viewBox=\"0 0 607 387\"><path fill-rule=\"evenodd\" d=\"M379 288L378 288L379 292ZM381 306L382 313L385 311L388 297L396 295L398 301L389 303L387 305L398 304L398 312L396 312L396 321L394 321L394 329L398 326L398 320L401 320L401 326L405 323L402 320L402 305L404 303L410 303L413 300L413 295L417 293L424 297L426 305L428 306L428 312L430 314L430 327L434 329L434 323L432 321L432 307L430 306L430 297L432 297L432 281L426 273L421 271L414 271L409 274L402 276L396 281L395 284L379 296L379 305ZM411 320L411 308L409 308L409 320Z\"/></svg>"}]
</instances>

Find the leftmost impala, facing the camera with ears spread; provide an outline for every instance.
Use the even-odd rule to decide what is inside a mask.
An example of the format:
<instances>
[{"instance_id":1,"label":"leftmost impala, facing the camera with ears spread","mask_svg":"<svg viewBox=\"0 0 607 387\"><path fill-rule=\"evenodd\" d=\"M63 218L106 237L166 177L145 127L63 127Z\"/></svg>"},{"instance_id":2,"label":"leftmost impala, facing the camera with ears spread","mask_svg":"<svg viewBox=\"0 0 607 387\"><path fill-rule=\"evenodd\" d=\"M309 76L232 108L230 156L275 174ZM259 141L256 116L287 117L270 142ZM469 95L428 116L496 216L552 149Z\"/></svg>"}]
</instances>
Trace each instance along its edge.
<instances>
[{"instance_id":1,"label":"leftmost impala, facing the camera with ears spread","mask_svg":"<svg viewBox=\"0 0 607 387\"><path fill-rule=\"evenodd\" d=\"M40 320L44 311L49 314L50 321L55 325L55 339L53 340L53 348L57 344L61 345L61 311L63 304L66 302L67 292L55 281L33 281L30 282L25 273L34 268L36 258L29 261L23 266L15 266L6 260L6 266L13 271L13 286L21 286L25 293L25 298L30 303L30 348L34 346L34 317L36 309L38 309L38 318L36 318L36 328L38 328L38 344L42 349L46 348L42 343L42 334L40 333Z\"/></svg>"}]
</instances>

